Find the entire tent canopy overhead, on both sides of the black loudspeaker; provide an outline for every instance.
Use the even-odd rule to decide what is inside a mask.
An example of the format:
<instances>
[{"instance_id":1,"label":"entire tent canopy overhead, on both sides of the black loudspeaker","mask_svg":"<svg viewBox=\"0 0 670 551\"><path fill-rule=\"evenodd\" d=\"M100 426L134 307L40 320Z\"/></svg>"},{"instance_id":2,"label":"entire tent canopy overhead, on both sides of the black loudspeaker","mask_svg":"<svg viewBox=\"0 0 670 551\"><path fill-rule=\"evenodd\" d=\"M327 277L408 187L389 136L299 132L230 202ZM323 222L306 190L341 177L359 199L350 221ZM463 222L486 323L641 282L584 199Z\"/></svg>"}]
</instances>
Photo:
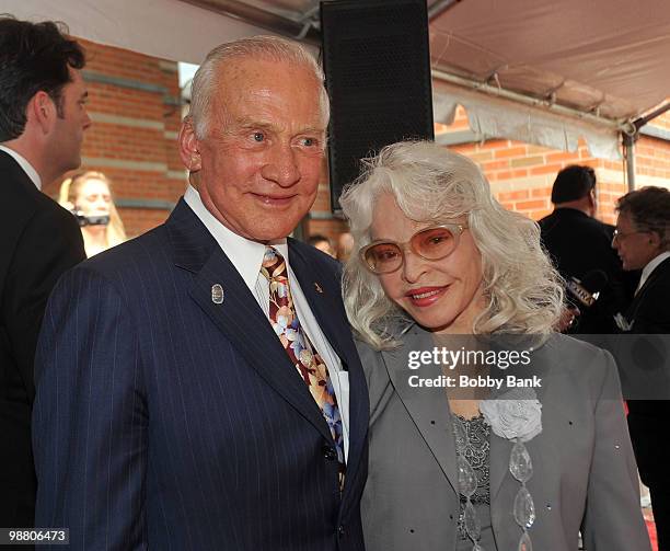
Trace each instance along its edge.
<instances>
[{"instance_id":1,"label":"entire tent canopy overhead, on both sides of the black loudspeaker","mask_svg":"<svg viewBox=\"0 0 670 551\"><path fill-rule=\"evenodd\" d=\"M189 62L268 26L302 27L296 32L302 35L319 26L317 0L4 4L22 19L65 21L83 38ZM593 154L613 158L619 131L670 96L667 0L428 0L428 7L436 122L448 123L463 105L480 136L567 150L584 138Z\"/></svg>"}]
</instances>

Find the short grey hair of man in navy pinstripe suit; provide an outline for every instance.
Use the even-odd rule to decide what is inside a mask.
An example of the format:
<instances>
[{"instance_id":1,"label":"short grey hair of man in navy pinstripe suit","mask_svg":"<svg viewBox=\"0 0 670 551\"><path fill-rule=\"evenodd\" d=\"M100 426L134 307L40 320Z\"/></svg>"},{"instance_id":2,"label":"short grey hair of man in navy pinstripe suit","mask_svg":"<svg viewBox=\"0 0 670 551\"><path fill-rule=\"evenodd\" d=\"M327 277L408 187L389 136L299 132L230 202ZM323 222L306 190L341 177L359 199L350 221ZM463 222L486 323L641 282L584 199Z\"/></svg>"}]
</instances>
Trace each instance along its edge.
<instances>
[{"instance_id":1,"label":"short grey hair of man in navy pinstripe suit","mask_svg":"<svg viewBox=\"0 0 670 551\"><path fill-rule=\"evenodd\" d=\"M320 83L321 113L324 122L328 122L331 105L323 84L323 70L304 46L279 36L250 36L217 46L207 54L207 58L193 78L188 118L193 122L198 139L203 139L207 134L211 100L217 88L217 71L226 61L243 57L286 61L310 70Z\"/></svg>"}]
</instances>

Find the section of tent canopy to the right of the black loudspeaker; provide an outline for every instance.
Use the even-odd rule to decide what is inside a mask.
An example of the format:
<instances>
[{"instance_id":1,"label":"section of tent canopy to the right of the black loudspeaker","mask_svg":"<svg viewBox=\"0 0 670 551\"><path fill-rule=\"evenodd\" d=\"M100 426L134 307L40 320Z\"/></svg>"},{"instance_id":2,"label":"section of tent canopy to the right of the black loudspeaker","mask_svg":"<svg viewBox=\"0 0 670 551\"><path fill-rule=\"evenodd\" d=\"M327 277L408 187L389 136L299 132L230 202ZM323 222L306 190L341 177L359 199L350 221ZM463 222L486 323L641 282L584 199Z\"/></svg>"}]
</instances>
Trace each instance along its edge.
<instances>
[{"instance_id":1,"label":"section of tent canopy to the right of the black loudspeaker","mask_svg":"<svg viewBox=\"0 0 670 551\"><path fill-rule=\"evenodd\" d=\"M431 22L430 55L436 120L461 104L486 136L567 150L582 137L592 154L615 158L617 130L670 95L670 9L667 0L464 0Z\"/></svg>"}]
</instances>

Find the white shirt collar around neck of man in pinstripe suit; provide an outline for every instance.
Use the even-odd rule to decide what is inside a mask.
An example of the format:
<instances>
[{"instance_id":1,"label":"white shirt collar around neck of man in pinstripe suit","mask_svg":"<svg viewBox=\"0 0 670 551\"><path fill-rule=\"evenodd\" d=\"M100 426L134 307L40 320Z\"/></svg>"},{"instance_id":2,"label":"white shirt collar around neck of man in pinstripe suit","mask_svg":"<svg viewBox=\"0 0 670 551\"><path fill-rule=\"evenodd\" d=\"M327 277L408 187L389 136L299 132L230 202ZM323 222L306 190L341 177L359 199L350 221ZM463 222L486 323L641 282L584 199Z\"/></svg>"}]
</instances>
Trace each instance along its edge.
<instances>
[{"instance_id":1,"label":"white shirt collar around neck of man in pinstripe suit","mask_svg":"<svg viewBox=\"0 0 670 551\"><path fill-rule=\"evenodd\" d=\"M230 262L238 269L246 286L253 291L256 279L261 273L263 256L265 254L265 243L258 243L251 239L238 236L234 231L223 226L213 215L207 210L203 204L200 194L195 187L189 185L184 193L184 200L205 225L209 233L216 239L221 250L226 253ZM288 244L286 238L268 243L279 251L287 262L288 267Z\"/></svg>"}]
</instances>

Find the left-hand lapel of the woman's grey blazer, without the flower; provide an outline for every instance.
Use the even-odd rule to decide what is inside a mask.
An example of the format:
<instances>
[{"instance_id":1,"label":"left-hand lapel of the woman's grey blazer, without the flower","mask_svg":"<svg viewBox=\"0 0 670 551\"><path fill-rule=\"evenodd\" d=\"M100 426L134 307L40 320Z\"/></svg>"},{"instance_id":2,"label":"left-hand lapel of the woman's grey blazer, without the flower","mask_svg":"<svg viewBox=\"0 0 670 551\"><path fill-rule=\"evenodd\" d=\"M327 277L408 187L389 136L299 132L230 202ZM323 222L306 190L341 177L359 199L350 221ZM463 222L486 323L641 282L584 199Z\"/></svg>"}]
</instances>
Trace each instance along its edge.
<instances>
[{"instance_id":1,"label":"left-hand lapel of the woman's grey blazer, without the flower","mask_svg":"<svg viewBox=\"0 0 670 551\"><path fill-rule=\"evenodd\" d=\"M457 471L457 452L451 424L449 402L443 388L413 388L408 378L413 375L421 379L436 378L442 375L435 366L409 369L407 353L409 351L428 351L434 347L429 334L407 333L402 347L382 352L391 382L403 402L412 421L419 431L426 445L440 466L444 477L459 493ZM402 446L402 443L398 443Z\"/></svg>"}]
</instances>

